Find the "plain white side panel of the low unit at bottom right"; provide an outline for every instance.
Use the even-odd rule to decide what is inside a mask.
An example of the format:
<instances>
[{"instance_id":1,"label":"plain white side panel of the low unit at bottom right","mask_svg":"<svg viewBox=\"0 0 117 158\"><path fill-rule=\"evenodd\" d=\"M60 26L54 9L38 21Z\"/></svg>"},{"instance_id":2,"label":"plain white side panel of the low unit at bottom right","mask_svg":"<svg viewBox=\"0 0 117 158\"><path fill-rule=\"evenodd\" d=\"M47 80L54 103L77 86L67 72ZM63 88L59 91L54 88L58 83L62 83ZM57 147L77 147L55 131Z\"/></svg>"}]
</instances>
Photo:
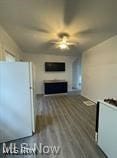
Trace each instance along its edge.
<instances>
[{"instance_id":1,"label":"plain white side panel of the low unit at bottom right","mask_svg":"<svg viewBox=\"0 0 117 158\"><path fill-rule=\"evenodd\" d=\"M117 111L100 103L98 145L109 158L117 158Z\"/></svg>"}]
</instances>

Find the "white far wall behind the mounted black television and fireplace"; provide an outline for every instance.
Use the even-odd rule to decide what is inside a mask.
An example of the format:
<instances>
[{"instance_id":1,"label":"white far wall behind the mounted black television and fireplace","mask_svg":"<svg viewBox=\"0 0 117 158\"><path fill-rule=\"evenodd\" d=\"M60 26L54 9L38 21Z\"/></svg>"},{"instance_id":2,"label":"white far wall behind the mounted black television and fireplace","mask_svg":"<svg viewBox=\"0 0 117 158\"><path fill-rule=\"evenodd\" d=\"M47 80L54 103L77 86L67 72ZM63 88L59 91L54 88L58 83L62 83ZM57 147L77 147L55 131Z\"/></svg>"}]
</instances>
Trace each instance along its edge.
<instances>
[{"instance_id":1,"label":"white far wall behind the mounted black television and fireplace","mask_svg":"<svg viewBox=\"0 0 117 158\"><path fill-rule=\"evenodd\" d=\"M43 94L43 80L60 79L68 81L68 90L72 90L72 62L75 57L58 56L58 55L42 55L42 54L27 54L24 56L25 60L32 61L35 65L36 71L36 93ZM45 62L65 62L65 72L45 72Z\"/></svg>"}]
</instances>

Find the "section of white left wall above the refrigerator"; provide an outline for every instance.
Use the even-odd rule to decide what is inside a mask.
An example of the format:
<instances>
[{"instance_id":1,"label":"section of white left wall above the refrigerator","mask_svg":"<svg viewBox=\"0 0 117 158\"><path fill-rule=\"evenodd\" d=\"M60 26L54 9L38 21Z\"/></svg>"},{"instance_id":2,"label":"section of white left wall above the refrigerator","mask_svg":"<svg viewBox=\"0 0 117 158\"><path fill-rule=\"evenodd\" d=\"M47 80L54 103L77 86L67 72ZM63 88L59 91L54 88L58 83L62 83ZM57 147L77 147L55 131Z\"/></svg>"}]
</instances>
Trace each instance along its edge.
<instances>
[{"instance_id":1,"label":"section of white left wall above the refrigerator","mask_svg":"<svg viewBox=\"0 0 117 158\"><path fill-rule=\"evenodd\" d=\"M20 59L21 49L15 41L7 34L7 32L0 26L0 60L5 60L5 50L12 53L16 60Z\"/></svg>"}]
</instances>

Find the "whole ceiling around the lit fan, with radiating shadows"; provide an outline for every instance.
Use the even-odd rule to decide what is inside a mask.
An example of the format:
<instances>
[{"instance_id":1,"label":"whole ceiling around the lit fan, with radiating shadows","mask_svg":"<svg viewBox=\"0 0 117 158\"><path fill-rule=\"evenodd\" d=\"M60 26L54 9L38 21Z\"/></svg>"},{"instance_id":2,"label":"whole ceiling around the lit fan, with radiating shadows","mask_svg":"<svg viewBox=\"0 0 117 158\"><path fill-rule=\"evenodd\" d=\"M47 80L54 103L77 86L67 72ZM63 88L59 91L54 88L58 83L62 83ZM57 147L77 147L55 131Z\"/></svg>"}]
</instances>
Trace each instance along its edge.
<instances>
[{"instance_id":1,"label":"whole ceiling around the lit fan, with radiating shadows","mask_svg":"<svg viewBox=\"0 0 117 158\"><path fill-rule=\"evenodd\" d=\"M0 24L26 53L77 55L117 34L117 0L0 0ZM69 51L50 42L68 32Z\"/></svg>"}]
</instances>

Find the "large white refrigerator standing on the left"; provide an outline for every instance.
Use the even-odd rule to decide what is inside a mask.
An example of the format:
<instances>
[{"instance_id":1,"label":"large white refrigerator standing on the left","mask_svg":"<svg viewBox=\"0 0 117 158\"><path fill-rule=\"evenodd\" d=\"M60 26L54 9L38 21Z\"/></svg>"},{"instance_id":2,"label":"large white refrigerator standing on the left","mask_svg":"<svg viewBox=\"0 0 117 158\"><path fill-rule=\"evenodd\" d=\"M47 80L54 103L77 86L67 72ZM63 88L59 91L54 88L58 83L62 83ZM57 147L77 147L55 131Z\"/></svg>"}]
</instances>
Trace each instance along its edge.
<instances>
[{"instance_id":1,"label":"large white refrigerator standing on the left","mask_svg":"<svg viewBox=\"0 0 117 158\"><path fill-rule=\"evenodd\" d=\"M0 62L0 143L35 132L33 66Z\"/></svg>"}]
</instances>

